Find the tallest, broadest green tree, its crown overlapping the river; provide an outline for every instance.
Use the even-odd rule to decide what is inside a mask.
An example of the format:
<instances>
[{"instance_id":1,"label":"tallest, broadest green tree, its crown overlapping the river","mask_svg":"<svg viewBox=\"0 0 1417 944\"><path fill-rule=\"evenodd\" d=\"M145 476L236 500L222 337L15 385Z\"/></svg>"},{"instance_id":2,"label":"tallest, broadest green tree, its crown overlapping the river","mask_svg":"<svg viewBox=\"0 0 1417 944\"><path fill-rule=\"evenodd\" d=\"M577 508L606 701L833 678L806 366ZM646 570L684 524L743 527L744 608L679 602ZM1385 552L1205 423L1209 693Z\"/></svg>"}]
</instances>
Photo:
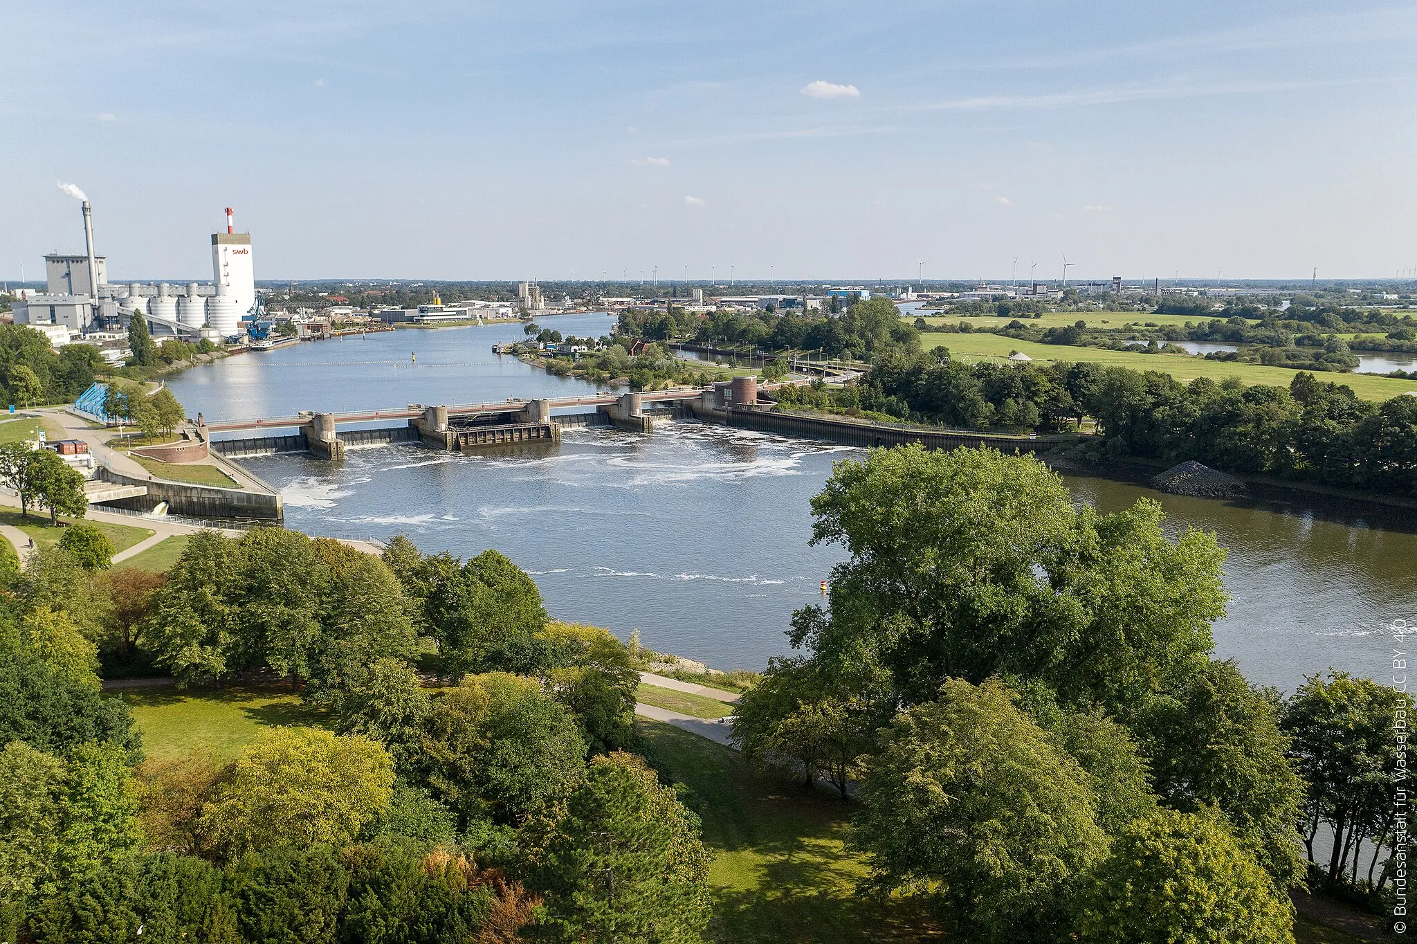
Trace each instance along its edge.
<instances>
[{"instance_id":1,"label":"tallest, broadest green tree, its crown overlapping the river","mask_svg":"<svg viewBox=\"0 0 1417 944\"><path fill-rule=\"evenodd\" d=\"M799 609L791 639L828 663L886 669L905 703L947 678L1010 675L1122 716L1203 661L1224 614L1213 534L1169 540L1149 500L1074 507L1032 456L876 449L839 463L812 513L812 543L850 557L832 570L829 608Z\"/></svg>"}]
</instances>

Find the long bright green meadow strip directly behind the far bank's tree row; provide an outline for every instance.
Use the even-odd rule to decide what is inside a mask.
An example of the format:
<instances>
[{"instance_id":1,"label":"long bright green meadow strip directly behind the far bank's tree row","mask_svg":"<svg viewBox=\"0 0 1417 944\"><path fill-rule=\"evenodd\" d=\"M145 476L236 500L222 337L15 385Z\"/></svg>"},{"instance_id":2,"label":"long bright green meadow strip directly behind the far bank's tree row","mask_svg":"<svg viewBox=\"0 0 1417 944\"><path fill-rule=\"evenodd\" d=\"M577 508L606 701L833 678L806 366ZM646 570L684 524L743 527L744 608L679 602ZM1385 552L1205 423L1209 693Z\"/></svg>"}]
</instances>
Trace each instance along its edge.
<instances>
[{"instance_id":1,"label":"long bright green meadow strip directly behind the far bank's tree row","mask_svg":"<svg viewBox=\"0 0 1417 944\"><path fill-rule=\"evenodd\" d=\"M1204 357L1183 357L1179 354L1141 354L1100 347L1034 344L1003 335L927 335L921 339L921 344L927 350L935 346L948 347L952 356L965 361L998 360L1007 357L1012 350L1019 350L1037 361L1094 361L1098 364L1131 367L1132 370L1156 370L1182 381L1195 380L1196 377L1212 377L1214 380L1240 377L1250 384L1288 387L1294 376L1299 373L1287 367L1265 367L1264 364L1206 360ZM1363 400L1391 400L1410 390L1417 391L1417 380L1396 380L1374 374L1321 373L1315 376L1323 381L1346 384Z\"/></svg>"}]
</instances>

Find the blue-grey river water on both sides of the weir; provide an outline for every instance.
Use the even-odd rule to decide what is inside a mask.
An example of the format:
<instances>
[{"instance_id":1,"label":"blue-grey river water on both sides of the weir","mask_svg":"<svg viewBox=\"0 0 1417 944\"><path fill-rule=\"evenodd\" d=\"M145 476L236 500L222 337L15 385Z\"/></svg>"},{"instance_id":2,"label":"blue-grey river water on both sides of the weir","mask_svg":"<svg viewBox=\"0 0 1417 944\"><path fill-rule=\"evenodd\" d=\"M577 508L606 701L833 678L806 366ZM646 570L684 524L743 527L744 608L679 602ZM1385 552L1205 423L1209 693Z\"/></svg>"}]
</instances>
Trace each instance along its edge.
<instances>
[{"instance_id":1,"label":"blue-grey river water on both sides of the weir","mask_svg":"<svg viewBox=\"0 0 1417 944\"><path fill-rule=\"evenodd\" d=\"M605 315L543 319L563 335L599 336ZM398 330L230 357L170 381L188 414L281 415L296 410L473 403L574 395L495 343L520 325ZM789 652L792 609L822 600L842 553L809 547L809 499L859 449L697 422L650 435L565 429L560 445L445 454L414 445L350 449L343 463L298 455L244 461L279 488L286 523L310 534L388 539L429 551L487 547L534 574L547 608L717 668L760 669ZM1217 502L1161 495L1102 478L1066 476L1104 512L1142 495L1176 527L1216 532L1230 549L1233 602L1217 652L1255 682L1292 690L1338 666L1390 675L1386 625L1417 621L1417 515L1360 507Z\"/></svg>"}]
</instances>

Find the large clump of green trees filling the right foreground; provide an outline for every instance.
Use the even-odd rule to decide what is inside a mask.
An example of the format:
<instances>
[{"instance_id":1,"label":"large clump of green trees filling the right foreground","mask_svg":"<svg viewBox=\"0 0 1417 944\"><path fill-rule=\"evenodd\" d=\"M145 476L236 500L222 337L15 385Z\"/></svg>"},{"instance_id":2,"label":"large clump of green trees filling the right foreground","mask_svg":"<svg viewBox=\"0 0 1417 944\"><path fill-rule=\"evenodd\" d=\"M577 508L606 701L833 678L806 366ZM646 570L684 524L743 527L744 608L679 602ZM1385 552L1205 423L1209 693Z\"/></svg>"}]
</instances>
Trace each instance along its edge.
<instances>
[{"instance_id":1,"label":"large clump of green trees filling the right foreground","mask_svg":"<svg viewBox=\"0 0 1417 944\"><path fill-rule=\"evenodd\" d=\"M839 543L734 738L857 785L869 887L971 941L1292 941L1299 832L1328 875L1390 869L1399 696L1311 679L1284 706L1212 656L1213 534L1074 505L1032 456L874 451L812 502ZM1308 782L1305 782L1308 781Z\"/></svg>"}]
</instances>

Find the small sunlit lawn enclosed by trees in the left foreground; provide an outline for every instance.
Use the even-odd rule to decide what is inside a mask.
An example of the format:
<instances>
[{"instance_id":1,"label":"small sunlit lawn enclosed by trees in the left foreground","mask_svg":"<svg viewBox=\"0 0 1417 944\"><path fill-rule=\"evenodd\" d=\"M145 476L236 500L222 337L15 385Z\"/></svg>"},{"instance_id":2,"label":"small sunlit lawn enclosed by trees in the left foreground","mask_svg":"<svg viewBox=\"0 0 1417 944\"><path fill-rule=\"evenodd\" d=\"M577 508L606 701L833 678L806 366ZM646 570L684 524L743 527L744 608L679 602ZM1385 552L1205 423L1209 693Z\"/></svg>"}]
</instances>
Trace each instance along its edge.
<instances>
[{"instance_id":1,"label":"small sunlit lawn enclosed by trees in the left foreground","mask_svg":"<svg viewBox=\"0 0 1417 944\"><path fill-rule=\"evenodd\" d=\"M193 747L208 747L221 758L228 758L255 740L262 727L324 724L323 712L307 707L286 689L136 689L118 695L132 709L133 720L143 731L147 757L159 760L181 757Z\"/></svg>"}]
</instances>

